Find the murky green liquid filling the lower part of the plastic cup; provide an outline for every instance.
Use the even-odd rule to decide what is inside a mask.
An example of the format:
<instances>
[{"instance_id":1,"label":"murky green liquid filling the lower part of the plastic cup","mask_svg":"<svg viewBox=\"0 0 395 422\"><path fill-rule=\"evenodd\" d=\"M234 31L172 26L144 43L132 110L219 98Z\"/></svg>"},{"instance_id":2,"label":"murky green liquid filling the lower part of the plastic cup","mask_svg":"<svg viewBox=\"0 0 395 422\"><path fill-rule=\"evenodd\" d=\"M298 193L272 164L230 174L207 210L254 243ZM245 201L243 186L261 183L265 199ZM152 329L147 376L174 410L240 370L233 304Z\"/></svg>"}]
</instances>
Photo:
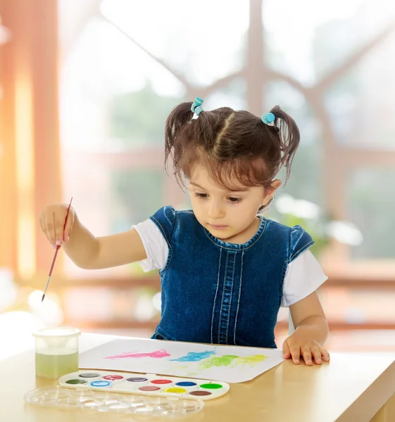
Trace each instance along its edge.
<instances>
[{"instance_id":1,"label":"murky green liquid filling the lower part of the plastic cup","mask_svg":"<svg viewBox=\"0 0 395 422\"><path fill-rule=\"evenodd\" d=\"M70 354L36 353L36 376L50 380L78 371L78 352Z\"/></svg>"}]
</instances>

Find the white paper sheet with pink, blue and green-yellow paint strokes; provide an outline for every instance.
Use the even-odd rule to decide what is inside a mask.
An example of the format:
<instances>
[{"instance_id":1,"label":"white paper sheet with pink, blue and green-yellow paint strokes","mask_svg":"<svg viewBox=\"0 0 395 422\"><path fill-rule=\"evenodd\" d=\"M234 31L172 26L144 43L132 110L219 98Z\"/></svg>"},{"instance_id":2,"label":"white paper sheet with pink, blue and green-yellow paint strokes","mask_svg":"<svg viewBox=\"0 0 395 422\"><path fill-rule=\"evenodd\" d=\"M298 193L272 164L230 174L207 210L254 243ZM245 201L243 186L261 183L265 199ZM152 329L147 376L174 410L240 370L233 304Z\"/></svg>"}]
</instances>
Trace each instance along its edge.
<instances>
[{"instance_id":1,"label":"white paper sheet with pink, blue and green-yellow paint strokes","mask_svg":"<svg viewBox=\"0 0 395 422\"><path fill-rule=\"evenodd\" d=\"M87 350L80 354L80 368L242 383L283 360L281 350L142 338L113 340Z\"/></svg>"}]
</instances>

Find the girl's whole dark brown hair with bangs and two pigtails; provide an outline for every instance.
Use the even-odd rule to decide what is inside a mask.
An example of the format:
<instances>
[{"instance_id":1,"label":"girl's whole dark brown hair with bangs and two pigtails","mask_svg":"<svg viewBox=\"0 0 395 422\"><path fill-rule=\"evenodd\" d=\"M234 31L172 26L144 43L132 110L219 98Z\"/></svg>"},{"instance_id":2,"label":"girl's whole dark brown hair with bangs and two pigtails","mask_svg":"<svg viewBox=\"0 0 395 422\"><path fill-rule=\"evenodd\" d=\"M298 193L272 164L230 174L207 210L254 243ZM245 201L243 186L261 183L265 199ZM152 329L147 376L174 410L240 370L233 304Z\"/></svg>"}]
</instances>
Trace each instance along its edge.
<instances>
[{"instance_id":1,"label":"girl's whole dark brown hair with bangs and two pigtails","mask_svg":"<svg viewBox=\"0 0 395 422\"><path fill-rule=\"evenodd\" d=\"M287 182L300 134L295 121L279 106L270 110L275 115L272 124L229 107L201 111L193 119L191 106L181 103L175 107L165 124L165 166L170 157L181 187L195 162L230 190L234 181L243 186L269 186L282 167Z\"/></svg>"}]
</instances>

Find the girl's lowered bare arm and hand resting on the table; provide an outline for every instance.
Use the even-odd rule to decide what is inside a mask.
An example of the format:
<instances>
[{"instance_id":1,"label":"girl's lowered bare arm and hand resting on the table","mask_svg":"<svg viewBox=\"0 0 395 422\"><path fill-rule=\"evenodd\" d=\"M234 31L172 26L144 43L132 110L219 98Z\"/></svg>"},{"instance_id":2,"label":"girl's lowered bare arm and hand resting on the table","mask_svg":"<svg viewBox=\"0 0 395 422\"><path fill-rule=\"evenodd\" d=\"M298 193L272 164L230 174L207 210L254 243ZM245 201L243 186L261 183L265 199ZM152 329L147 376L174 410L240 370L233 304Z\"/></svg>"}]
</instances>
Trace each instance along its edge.
<instances>
[{"instance_id":1,"label":"girl's lowered bare arm and hand resting on the table","mask_svg":"<svg viewBox=\"0 0 395 422\"><path fill-rule=\"evenodd\" d=\"M330 360L329 353L321 346L329 333L327 319L320 304L317 292L299 300L289 307L295 331L284 341L282 351L284 359L292 358L295 364L300 363L303 356L306 364L312 365Z\"/></svg>"}]
</instances>

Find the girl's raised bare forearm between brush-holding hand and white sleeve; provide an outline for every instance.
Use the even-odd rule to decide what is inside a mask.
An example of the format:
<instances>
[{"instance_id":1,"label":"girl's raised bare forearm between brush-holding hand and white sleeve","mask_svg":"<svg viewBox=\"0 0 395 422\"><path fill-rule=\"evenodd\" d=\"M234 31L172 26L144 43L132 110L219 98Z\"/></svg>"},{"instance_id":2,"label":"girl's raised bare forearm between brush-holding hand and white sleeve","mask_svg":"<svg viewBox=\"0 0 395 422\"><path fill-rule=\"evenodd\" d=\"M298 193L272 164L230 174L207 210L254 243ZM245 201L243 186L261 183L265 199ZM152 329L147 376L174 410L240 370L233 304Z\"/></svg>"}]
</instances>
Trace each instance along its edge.
<instances>
[{"instance_id":1,"label":"girl's raised bare forearm between brush-holding hand and white sleeve","mask_svg":"<svg viewBox=\"0 0 395 422\"><path fill-rule=\"evenodd\" d=\"M144 245L134 229L96 238L77 215L70 239L63 241L62 248L70 260L83 269L117 267L146 259Z\"/></svg>"}]
</instances>

